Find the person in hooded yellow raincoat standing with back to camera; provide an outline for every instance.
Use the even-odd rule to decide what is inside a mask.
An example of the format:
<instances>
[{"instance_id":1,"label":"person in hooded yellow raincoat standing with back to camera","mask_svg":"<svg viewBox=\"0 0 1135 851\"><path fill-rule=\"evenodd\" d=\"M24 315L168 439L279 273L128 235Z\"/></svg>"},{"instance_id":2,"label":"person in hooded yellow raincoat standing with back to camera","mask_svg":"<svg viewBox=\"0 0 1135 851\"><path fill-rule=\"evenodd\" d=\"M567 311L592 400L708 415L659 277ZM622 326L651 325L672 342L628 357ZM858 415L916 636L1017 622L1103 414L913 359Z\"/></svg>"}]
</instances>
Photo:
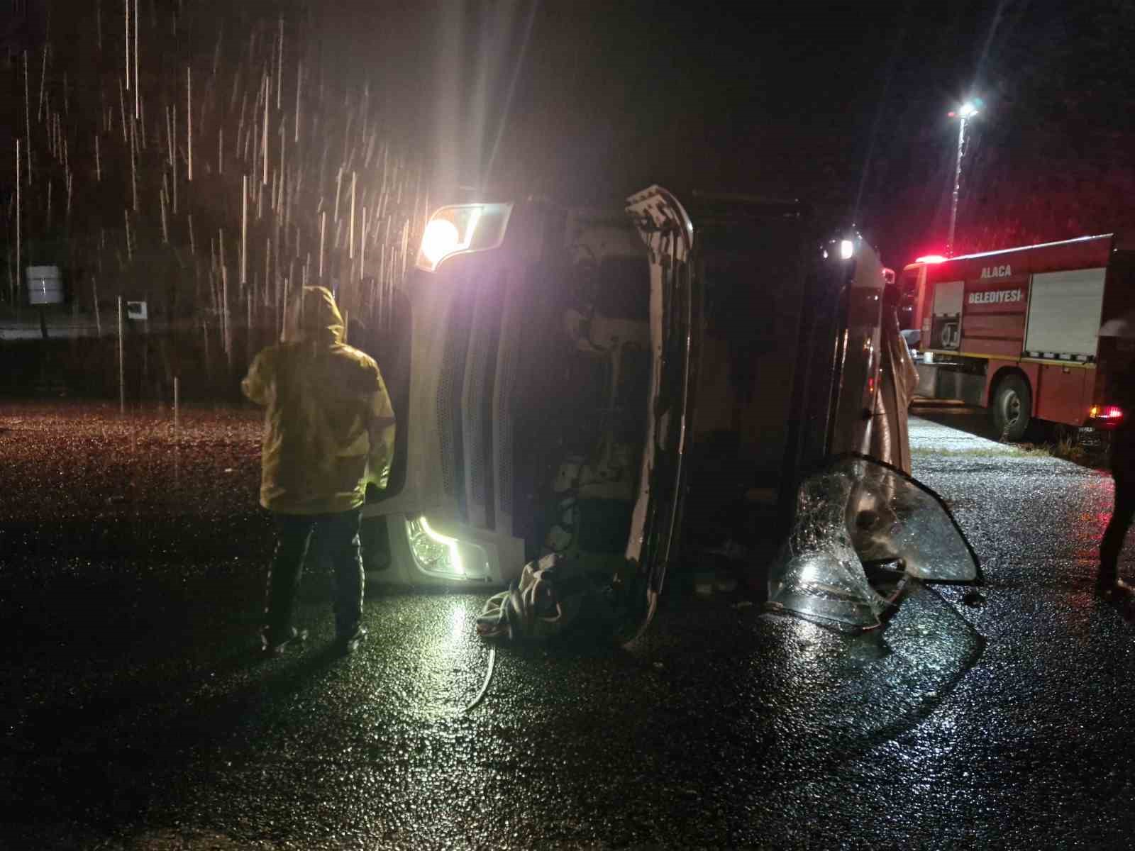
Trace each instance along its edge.
<instances>
[{"instance_id":1,"label":"person in hooded yellow raincoat standing with back to camera","mask_svg":"<svg viewBox=\"0 0 1135 851\"><path fill-rule=\"evenodd\" d=\"M260 504L276 524L261 631L267 655L308 637L292 618L313 533L335 571L336 646L352 652L367 633L359 523L367 483L385 486L389 474L395 420L378 364L343 336L330 290L304 287L284 342L260 352L241 385L267 407Z\"/></svg>"}]
</instances>

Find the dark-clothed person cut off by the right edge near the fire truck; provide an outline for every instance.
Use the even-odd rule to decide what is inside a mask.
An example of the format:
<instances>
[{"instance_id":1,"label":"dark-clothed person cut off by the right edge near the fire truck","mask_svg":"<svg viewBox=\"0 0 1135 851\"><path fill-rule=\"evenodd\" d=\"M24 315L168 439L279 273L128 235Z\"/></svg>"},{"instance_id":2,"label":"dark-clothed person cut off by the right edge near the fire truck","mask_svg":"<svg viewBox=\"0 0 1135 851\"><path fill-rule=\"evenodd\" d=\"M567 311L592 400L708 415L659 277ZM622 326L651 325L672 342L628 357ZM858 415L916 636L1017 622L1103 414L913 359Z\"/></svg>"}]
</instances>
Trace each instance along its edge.
<instances>
[{"instance_id":1,"label":"dark-clothed person cut off by the right edge near the fire truck","mask_svg":"<svg viewBox=\"0 0 1135 851\"><path fill-rule=\"evenodd\" d=\"M1132 521L1135 520L1135 361L1116 377L1112 398L1123 416L1111 433L1111 478L1115 481L1115 507L1100 542L1100 574L1096 591L1104 597L1129 598L1135 587L1119 579L1119 554Z\"/></svg>"}]
</instances>

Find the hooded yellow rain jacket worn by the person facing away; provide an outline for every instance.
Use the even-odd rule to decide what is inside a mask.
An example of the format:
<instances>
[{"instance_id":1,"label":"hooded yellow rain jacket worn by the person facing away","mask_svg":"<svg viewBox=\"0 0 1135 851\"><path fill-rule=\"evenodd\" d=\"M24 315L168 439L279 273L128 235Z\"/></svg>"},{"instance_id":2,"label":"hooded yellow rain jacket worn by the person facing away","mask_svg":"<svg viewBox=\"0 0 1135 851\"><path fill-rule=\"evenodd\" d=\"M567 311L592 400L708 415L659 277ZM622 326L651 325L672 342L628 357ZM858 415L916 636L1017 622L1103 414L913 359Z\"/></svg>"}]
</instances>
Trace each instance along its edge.
<instances>
[{"instance_id":1,"label":"hooded yellow rain jacket worn by the person facing away","mask_svg":"<svg viewBox=\"0 0 1135 851\"><path fill-rule=\"evenodd\" d=\"M281 514L356 508L368 481L385 487L394 455L382 374L375 359L343 342L343 317L325 287L303 288L291 326L241 384L267 405L260 504Z\"/></svg>"}]
</instances>

